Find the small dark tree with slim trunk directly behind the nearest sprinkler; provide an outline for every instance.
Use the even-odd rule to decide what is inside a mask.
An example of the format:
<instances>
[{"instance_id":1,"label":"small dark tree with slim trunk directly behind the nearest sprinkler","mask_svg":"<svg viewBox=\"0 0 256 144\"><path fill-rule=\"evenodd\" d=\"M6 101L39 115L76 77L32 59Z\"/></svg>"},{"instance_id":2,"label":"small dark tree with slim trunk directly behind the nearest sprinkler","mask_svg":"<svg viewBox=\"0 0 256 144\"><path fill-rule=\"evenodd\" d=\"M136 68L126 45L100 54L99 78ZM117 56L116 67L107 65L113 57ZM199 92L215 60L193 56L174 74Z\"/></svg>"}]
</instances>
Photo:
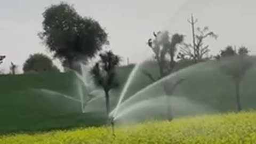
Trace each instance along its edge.
<instances>
[{"instance_id":1,"label":"small dark tree with slim trunk directly behind the nearest sprinkler","mask_svg":"<svg viewBox=\"0 0 256 144\"><path fill-rule=\"evenodd\" d=\"M95 84L102 87L105 92L106 112L110 111L109 91L115 89L119 84L116 79L116 67L121 59L112 51L99 54L100 60L91 69Z\"/></svg>"}]
</instances>

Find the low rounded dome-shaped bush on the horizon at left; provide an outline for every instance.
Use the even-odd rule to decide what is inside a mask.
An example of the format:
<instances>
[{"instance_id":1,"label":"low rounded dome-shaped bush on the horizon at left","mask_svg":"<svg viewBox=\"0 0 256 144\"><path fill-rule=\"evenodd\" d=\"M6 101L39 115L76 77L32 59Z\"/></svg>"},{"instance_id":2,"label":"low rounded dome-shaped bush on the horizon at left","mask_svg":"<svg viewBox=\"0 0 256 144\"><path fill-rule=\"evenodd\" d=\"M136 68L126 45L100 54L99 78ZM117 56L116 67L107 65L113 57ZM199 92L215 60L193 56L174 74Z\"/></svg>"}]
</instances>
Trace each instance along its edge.
<instances>
[{"instance_id":1,"label":"low rounded dome-shaped bush on the horizon at left","mask_svg":"<svg viewBox=\"0 0 256 144\"><path fill-rule=\"evenodd\" d=\"M36 53L29 55L29 58L23 65L23 71L25 73L31 71L42 73L46 71L59 71L59 69L53 65L52 60L47 55Z\"/></svg>"}]
</instances>

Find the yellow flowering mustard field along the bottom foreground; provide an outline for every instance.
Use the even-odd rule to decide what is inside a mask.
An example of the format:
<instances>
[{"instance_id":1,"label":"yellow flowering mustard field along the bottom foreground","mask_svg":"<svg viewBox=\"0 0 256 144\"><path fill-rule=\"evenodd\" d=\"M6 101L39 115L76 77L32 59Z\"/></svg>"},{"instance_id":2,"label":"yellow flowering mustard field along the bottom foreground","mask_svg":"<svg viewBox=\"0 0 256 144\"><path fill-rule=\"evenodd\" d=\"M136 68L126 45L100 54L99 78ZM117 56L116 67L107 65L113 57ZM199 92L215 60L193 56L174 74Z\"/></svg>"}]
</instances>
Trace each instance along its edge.
<instances>
[{"instance_id":1,"label":"yellow flowering mustard field along the bottom foreground","mask_svg":"<svg viewBox=\"0 0 256 144\"><path fill-rule=\"evenodd\" d=\"M256 113L198 116L172 122L0 136L0 144L256 143Z\"/></svg>"}]
</instances>

